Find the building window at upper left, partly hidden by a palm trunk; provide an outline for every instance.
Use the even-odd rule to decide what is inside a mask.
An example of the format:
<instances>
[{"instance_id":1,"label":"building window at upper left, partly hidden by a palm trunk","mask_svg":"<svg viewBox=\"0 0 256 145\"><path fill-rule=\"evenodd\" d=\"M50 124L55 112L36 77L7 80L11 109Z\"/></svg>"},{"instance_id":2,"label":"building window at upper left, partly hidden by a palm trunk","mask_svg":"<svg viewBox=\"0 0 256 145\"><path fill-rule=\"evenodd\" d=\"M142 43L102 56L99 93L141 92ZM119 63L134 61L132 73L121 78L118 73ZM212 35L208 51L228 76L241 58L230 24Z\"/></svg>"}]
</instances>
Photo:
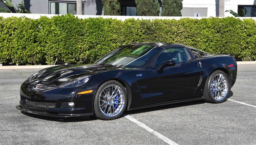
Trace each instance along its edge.
<instances>
[{"instance_id":1,"label":"building window at upper left, partly hidden by a palm trunk","mask_svg":"<svg viewBox=\"0 0 256 145\"><path fill-rule=\"evenodd\" d=\"M76 3L50 2L50 14L69 14L76 15ZM84 3L82 3L82 14L84 15Z\"/></svg>"}]
</instances>

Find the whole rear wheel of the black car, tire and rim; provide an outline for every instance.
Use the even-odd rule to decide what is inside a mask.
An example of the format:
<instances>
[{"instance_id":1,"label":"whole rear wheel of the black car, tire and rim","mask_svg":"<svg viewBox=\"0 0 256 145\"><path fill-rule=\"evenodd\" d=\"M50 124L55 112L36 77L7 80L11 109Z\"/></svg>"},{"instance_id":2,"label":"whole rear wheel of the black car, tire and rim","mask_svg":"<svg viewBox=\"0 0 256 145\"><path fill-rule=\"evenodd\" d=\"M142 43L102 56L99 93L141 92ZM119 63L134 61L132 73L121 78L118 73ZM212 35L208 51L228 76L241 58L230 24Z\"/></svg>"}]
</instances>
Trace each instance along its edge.
<instances>
[{"instance_id":1,"label":"whole rear wheel of the black car, tire and rim","mask_svg":"<svg viewBox=\"0 0 256 145\"><path fill-rule=\"evenodd\" d=\"M231 84L225 72L217 70L209 76L205 88L204 99L209 103L222 103L227 99Z\"/></svg>"}]
</instances>

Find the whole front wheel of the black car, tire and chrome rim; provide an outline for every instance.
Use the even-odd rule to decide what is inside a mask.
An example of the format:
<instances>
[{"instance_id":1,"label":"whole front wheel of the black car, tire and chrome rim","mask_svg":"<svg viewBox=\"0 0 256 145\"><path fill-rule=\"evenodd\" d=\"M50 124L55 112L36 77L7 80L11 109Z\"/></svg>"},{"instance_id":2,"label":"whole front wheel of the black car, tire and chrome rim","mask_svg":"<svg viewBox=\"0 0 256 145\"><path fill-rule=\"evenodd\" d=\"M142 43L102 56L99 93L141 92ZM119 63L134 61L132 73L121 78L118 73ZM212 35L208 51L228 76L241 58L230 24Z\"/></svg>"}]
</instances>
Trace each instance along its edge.
<instances>
[{"instance_id":1,"label":"whole front wheel of the black car, tire and chrome rim","mask_svg":"<svg viewBox=\"0 0 256 145\"><path fill-rule=\"evenodd\" d=\"M94 113L98 119L113 120L119 118L127 105L125 87L115 80L102 84L94 96Z\"/></svg>"}]
</instances>

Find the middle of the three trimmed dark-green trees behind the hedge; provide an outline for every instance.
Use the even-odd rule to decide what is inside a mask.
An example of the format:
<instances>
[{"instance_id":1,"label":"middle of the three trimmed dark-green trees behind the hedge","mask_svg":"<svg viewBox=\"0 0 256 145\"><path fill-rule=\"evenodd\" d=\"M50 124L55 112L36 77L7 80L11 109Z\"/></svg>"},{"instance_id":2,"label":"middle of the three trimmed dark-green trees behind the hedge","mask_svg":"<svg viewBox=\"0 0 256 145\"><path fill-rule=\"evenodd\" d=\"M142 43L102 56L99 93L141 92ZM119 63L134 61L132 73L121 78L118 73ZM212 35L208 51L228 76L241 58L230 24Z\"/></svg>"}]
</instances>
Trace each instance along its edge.
<instances>
[{"instance_id":1,"label":"middle of the three trimmed dark-green trees behind the hedge","mask_svg":"<svg viewBox=\"0 0 256 145\"><path fill-rule=\"evenodd\" d=\"M159 16L160 4L157 0L135 0L137 16Z\"/></svg>"}]
</instances>

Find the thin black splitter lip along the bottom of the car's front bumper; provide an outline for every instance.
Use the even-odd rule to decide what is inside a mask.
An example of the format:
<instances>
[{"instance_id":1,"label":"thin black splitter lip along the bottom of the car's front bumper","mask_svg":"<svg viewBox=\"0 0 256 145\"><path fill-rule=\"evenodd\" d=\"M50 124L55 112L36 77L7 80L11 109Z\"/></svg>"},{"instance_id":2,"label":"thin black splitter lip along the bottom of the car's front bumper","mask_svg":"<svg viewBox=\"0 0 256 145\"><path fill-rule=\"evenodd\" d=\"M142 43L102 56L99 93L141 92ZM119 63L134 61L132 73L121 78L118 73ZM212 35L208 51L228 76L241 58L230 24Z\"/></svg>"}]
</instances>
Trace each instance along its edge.
<instances>
[{"instance_id":1,"label":"thin black splitter lip along the bottom of the car's front bumper","mask_svg":"<svg viewBox=\"0 0 256 145\"><path fill-rule=\"evenodd\" d=\"M60 114L60 113L50 113L46 111L32 110L25 106L18 105L16 106L20 111L24 111L31 114L43 115L43 116L51 116L51 117L80 117L80 116L91 116L93 113L81 113L81 114Z\"/></svg>"}]
</instances>

